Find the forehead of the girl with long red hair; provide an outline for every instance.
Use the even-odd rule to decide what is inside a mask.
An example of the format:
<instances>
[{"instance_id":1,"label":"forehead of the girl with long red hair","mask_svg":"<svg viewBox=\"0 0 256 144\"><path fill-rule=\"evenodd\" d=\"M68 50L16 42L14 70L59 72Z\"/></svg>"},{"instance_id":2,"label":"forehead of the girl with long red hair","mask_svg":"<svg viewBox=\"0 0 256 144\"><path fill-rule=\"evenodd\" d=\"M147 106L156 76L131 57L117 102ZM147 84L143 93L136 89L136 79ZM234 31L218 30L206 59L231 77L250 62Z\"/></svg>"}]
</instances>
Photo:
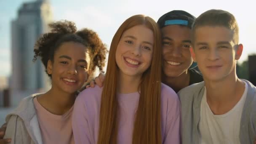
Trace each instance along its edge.
<instances>
[{"instance_id":1,"label":"forehead of the girl with long red hair","mask_svg":"<svg viewBox=\"0 0 256 144\"><path fill-rule=\"evenodd\" d=\"M133 36L137 40L150 42L154 41L153 31L144 25L137 25L127 29L125 32L123 32L122 38L126 36Z\"/></svg>"}]
</instances>

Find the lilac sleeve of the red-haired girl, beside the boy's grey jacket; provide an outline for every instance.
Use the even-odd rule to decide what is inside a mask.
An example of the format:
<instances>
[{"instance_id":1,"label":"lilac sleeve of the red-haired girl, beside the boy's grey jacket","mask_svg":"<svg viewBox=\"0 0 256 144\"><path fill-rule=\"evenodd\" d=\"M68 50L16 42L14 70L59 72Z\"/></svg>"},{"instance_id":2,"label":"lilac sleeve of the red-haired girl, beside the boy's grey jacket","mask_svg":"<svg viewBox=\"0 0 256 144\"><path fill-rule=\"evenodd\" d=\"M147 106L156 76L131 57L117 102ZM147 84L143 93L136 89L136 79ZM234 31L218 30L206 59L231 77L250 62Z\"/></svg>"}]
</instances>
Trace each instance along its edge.
<instances>
[{"instance_id":1,"label":"lilac sleeve of the red-haired girl, beside the boy's grey jacket","mask_svg":"<svg viewBox=\"0 0 256 144\"><path fill-rule=\"evenodd\" d=\"M175 99L168 99L167 121L163 144L180 144L180 102L175 94Z\"/></svg>"}]
</instances>

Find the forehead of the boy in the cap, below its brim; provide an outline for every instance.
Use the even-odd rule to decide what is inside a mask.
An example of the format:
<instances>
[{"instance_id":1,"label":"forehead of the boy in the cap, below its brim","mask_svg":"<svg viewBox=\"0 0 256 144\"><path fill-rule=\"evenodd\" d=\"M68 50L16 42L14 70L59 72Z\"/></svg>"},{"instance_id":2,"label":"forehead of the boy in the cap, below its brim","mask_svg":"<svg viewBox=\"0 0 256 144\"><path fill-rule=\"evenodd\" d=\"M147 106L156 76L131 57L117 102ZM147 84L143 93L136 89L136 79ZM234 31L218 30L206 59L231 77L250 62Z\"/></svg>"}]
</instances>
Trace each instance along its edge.
<instances>
[{"instance_id":1,"label":"forehead of the boy in the cap, below its brim","mask_svg":"<svg viewBox=\"0 0 256 144\"><path fill-rule=\"evenodd\" d=\"M180 37L181 39L190 39L191 29L181 25L168 25L161 29L163 37L170 37L175 39L175 37Z\"/></svg>"}]
</instances>

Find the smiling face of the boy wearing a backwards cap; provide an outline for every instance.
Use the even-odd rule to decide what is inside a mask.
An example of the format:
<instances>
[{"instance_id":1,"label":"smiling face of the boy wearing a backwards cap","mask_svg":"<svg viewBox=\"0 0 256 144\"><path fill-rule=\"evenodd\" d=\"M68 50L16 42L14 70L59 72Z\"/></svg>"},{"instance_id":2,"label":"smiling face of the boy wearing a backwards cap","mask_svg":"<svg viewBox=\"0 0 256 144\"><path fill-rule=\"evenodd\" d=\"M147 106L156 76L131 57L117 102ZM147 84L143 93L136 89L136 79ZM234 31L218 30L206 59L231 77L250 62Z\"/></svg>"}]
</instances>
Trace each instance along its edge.
<instances>
[{"instance_id":1,"label":"smiling face of the boy wearing a backwards cap","mask_svg":"<svg viewBox=\"0 0 256 144\"><path fill-rule=\"evenodd\" d=\"M163 37L163 72L166 77L179 77L191 66L189 51L191 29L180 25L169 25L161 29Z\"/></svg>"}]
</instances>

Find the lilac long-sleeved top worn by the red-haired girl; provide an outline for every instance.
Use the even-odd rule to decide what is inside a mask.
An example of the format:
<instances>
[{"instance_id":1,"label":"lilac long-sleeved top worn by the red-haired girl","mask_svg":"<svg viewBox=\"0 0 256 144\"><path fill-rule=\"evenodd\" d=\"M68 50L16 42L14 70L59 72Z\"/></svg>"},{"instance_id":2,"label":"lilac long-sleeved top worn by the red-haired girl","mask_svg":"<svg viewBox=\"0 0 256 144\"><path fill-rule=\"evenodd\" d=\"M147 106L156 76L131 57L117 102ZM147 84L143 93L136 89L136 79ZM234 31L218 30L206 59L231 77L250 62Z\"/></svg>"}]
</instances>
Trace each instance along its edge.
<instances>
[{"instance_id":1,"label":"lilac long-sleeved top worn by the red-haired girl","mask_svg":"<svg viewBox=\"0 0 256 144\"><path fill-rule=\"evenodd\" d=\"M87 88L76 101L72 128L76 144L97 144L102 88ZM134 115L139 103L139 93L118 94L120 121L117 143L132 144ZM180 103L177 94L162 84L162 144L180 144Z\"/></svg>"}]
</instances>

